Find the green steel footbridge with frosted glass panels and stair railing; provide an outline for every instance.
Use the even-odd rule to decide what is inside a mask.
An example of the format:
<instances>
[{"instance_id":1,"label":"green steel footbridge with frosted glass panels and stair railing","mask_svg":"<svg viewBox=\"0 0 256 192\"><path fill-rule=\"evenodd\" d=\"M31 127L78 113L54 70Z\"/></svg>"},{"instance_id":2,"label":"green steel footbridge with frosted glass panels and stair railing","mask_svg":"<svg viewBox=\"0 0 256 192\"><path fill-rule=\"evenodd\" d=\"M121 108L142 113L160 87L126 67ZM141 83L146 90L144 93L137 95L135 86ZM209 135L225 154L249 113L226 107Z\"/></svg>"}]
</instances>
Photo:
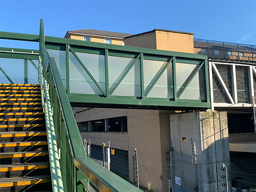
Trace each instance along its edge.
<instances>
[{"instance_id":1,"label":"green steel footbridge with frosted glass panels and stair railing","mask_svg":"<svg viewBox=\"0 0 256 192\"><path fill-rule=\"evenodd\" d=\"M207 56L0 32L39 50L0 47L1 84L40 84L55 192L140 191L89 159L71 106L210 108ZM1 186L1 185L0 185Z\"/></svg>"}]
</instances>

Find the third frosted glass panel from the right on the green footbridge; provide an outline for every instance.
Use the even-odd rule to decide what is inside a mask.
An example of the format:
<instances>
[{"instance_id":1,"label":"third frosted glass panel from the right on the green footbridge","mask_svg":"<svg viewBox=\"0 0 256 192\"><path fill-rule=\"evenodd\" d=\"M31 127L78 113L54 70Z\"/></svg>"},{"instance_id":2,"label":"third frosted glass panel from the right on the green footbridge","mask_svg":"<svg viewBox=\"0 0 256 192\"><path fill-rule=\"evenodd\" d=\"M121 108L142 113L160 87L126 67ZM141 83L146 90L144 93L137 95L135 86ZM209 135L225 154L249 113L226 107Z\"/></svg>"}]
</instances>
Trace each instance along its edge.
<instances>
[{"instance_id":1,"label":"third frosted glass panel from the right on the green footbridge","mask_svg":"<svg viewBox=\"0 0 256 192\"><path fill-rule=\"evenodd\" d=\"M113 90L135 59L108 56L109 90ZM140 60L130 69L112 95L141 97Z\"/></svg>"}]
</instances>

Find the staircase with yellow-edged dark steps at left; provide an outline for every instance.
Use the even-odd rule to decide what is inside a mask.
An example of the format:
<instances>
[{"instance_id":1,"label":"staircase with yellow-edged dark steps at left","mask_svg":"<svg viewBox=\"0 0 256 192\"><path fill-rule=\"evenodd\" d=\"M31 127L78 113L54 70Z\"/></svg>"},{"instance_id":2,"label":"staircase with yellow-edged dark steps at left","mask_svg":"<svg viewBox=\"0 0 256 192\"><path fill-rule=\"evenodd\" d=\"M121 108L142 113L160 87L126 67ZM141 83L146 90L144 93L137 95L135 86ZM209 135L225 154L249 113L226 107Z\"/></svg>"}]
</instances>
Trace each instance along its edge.
<instances>
[{"instance_id":1,"label":"staircase with yellow-edged dark steps at left","mask_svg":"<svg viewBox=\"0 0 256 192\"><path fill-rule=\"evenodd\" d=\"M51 189L40 85L0 84L0 192Z\"/></svg>"}]
</instances>

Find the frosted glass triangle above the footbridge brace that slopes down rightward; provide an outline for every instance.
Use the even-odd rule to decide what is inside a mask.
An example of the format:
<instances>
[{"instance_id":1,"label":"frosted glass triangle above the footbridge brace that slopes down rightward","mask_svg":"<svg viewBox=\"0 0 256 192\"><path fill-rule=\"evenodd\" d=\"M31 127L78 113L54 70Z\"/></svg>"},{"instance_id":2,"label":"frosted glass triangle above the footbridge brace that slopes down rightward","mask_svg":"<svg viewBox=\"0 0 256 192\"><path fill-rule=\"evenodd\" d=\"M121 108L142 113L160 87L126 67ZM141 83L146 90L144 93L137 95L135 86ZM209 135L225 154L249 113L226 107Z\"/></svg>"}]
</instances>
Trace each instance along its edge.
<instances>
[{"instance_id":1,"label":"frosted glass triangle above the footbridge brace that slopes down rightward","mask_svg":"<svg viewBox=\"0 0 256 192\"><path fill-rule=\"evenodd\" d=\"M94 79L99 83L101 88L106 91L105 55L77 52L76 55L93 75Z\"/></svg>"}]
</instances>

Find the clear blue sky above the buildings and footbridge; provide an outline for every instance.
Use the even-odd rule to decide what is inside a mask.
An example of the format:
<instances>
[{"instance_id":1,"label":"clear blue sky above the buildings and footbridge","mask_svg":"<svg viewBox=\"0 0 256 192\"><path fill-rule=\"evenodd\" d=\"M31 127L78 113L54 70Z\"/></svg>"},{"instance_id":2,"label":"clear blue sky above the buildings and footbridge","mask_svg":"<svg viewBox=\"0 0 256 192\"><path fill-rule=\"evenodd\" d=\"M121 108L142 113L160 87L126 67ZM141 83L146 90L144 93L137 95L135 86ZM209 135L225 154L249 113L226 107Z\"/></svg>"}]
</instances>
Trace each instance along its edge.
<instances>
[{"instance_id":1,"label":"clear blue sky above the buildings and footbridge","mask_svg":"<svg viewBox=\"0 0 256 192\"><path fill-rule=\"evenodd\" d=\"M43 19L45 34L56 37L84 28L134 34L161 28L256 45L255 7L256 0L0 0L0 31L39 34Z\"/></svg>"}]
</instances>

